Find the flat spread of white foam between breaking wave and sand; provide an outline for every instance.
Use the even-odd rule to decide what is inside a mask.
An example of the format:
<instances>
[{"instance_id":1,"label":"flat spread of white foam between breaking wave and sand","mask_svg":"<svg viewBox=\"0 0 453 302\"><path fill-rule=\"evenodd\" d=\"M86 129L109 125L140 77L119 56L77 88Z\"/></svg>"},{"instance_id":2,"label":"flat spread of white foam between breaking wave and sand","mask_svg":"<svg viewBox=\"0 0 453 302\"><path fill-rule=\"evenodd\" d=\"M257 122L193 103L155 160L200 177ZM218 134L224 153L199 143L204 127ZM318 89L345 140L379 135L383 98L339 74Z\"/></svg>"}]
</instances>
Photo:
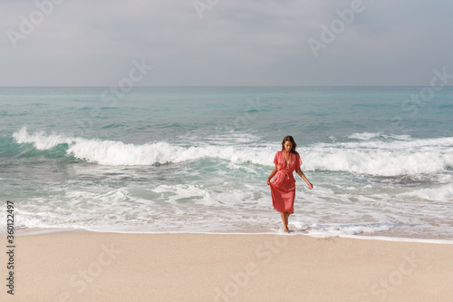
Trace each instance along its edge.
<instances>
[{"instance_id":1,"label":"flat spread of white foam between breaking wave and sand","mask_svg":"<svg viewBox=\"0 0 453 302\"><path fill-rule=\"evenodd\" d=\"M150 186L150 188L149 188ZM236 185L236 187L238 187ZM367 236L403 229L411 234L436 233L448 238L449 218L443 206L401 196L391 202L348 194L332 197L318 187L298 191L290 229L313 237ZM360 200L357 200L360 199ZM405 210L401 210L405 209ZM445 216L439 216L444 213ZM280 216L272 209L267 187L226 190L195 184L147 184L146 187L60 189L46 197L22 200L16 211L23 228L87 229L120 232L282 233ZM0 212L0 219L5 213ZM433 227L430 219L444 227ZM438 228L438 229L436 229ZM1 229L0 229L1 230ZM419 232L419 233L418 233Z\"/></svg>"}]
</instances>

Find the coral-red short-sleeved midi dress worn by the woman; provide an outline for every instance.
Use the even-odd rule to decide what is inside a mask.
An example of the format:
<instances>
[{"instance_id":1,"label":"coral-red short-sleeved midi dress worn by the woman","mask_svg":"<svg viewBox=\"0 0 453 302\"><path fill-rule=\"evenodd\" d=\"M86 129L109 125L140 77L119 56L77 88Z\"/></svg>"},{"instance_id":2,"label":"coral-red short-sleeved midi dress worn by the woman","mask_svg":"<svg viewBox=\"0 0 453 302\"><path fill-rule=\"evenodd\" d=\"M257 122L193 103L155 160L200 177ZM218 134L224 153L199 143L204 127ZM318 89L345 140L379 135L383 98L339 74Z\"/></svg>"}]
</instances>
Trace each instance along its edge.
<instances>
[{"instance_id":1,"label":"coral-red short-sleeved midi dress worn by the woman","mask_svg":"<svg viewBox=\"0 0 453 302\"><path fill-rule=\"evenodd\" d=\"M289 163L284 160L284 150L275 153L274 163L277 166L274 181L271 182L272 205L279 212L294 213L295 180L294 170L302 165L299 154L290 153Z\"/></svg>"}]
</instances>

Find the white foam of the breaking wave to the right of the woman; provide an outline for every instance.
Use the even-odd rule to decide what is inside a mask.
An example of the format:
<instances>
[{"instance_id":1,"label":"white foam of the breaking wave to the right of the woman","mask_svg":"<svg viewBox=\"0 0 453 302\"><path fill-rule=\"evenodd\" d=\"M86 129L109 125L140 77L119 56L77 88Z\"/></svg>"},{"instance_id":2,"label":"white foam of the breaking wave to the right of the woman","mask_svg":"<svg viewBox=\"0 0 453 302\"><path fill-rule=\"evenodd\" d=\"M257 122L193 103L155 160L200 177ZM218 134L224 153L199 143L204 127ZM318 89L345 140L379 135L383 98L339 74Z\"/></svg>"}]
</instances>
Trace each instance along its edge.
<instances>
[{"instance_id":1,"label":"white foam of the breaking wave to the right of the woman","mask_svg":"<svg viewBox=\"0 0 453 302\"><path fill-rule=\"evenodd\" d=\"M381 176L434 173L453 167L453 138L319 143L304 149L307 170Z\"/></svg>"}]
</instances>

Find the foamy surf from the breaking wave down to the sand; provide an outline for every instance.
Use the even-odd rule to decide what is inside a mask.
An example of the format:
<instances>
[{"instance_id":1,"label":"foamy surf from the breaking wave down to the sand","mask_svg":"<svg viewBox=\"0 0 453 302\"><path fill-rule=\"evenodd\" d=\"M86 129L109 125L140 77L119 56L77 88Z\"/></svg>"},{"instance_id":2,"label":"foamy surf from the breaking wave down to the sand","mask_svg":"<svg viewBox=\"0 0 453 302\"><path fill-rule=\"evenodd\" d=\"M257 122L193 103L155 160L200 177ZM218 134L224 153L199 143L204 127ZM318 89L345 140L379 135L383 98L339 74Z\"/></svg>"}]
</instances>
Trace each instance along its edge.
<instances>
[{"instance_id":1,"label":"foamy surf from the breaking wave down to the sand","mask_svg":"<svg viewBox=\"0 0 453 302\"><path fill-rule=\"evenodd\" d=\"M314 190L297 180L293 229L320 237L453 239L448 207L453 138L358 130L299 144ZM207 136L195 131L171 141L150 140L129 128L109 133L83 136L19 125L0 138L7 146L9 168L2 178L11 194L6 200L18 209L16 225L146 233L279 231L281 219L265 183L279 141L258 130Z\"/></svg>"}]
</instances>

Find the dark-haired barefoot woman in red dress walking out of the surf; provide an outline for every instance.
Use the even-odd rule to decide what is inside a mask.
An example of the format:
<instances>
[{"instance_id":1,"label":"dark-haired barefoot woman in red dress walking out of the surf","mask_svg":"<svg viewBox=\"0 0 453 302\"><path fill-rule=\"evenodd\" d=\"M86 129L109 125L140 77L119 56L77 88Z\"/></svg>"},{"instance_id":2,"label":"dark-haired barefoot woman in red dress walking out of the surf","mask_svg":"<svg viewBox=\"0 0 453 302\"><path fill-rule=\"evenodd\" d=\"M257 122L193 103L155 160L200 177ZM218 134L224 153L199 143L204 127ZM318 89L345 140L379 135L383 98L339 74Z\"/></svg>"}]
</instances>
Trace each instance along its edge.
<instances>
[{"instance_id":1,"label":"dark-haired barefoot woman in red dress walking out of the surf","mask_svg":"<svg viewBox=\"0 0 453 302\"><path fill-rule=\"evenodd\" d=\"M308 189L313 189L313 184L307 180L301 170L301 157L295 151L297 144L292 136L285 136L282 141L282 151L275 153L275 168L267 178L267 184L271 187L272 205L280 212L284 224L284 231L288 230L288 217L294 213L295 180L293 172L299 174L308 185ZM275 176L275 180L271 182Z\"/></svg>"}]
</instances>

